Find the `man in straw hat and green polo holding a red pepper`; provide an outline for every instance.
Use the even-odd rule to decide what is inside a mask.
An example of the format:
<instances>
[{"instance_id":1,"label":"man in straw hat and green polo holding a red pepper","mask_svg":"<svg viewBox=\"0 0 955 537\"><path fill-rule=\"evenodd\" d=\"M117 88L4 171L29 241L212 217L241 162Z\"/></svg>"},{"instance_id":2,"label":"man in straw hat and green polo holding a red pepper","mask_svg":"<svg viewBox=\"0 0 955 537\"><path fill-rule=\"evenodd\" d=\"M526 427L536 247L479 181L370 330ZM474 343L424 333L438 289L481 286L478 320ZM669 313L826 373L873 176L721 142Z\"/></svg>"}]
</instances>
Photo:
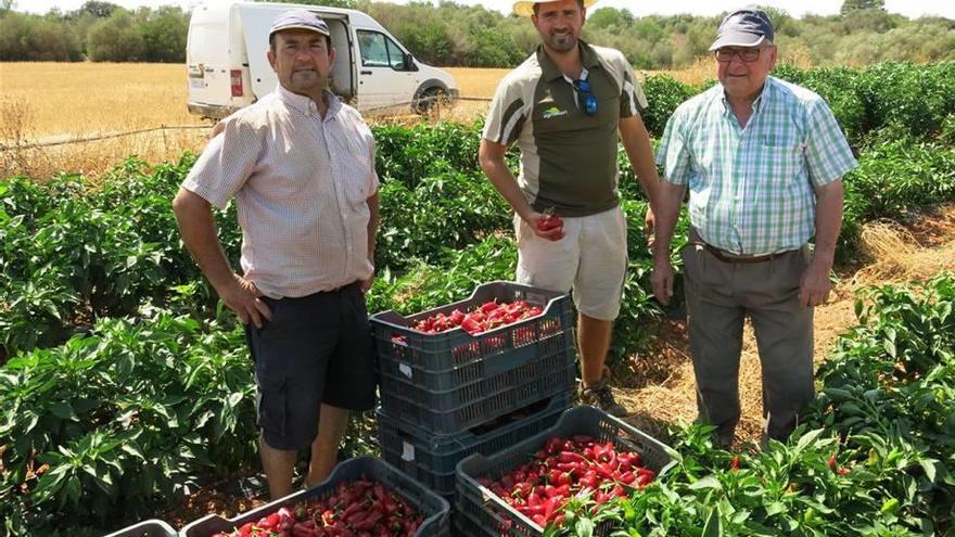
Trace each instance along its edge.
<instances>
[{"instance_id":1,"label":"man in straw hat and green polo holding a red pepper","mask_svg":"<svg viewBox=\"0 0 955 537\"><path fill-rule=\"evenodd\" d=\"M659 183L640 119L646 99L624 55L580 39L596 0L519 1L540 47L497 88L481 141L481 167L514 209L520 282L568 292L580 312L581 397L623 415L603 374L627 266L617 191L617 137L653 200ZM505 163L521 150L517 179ZM550 227L548 215L562 226ZM652 212L647 213L652 225Z\"/></svg>"}]
</instances>

